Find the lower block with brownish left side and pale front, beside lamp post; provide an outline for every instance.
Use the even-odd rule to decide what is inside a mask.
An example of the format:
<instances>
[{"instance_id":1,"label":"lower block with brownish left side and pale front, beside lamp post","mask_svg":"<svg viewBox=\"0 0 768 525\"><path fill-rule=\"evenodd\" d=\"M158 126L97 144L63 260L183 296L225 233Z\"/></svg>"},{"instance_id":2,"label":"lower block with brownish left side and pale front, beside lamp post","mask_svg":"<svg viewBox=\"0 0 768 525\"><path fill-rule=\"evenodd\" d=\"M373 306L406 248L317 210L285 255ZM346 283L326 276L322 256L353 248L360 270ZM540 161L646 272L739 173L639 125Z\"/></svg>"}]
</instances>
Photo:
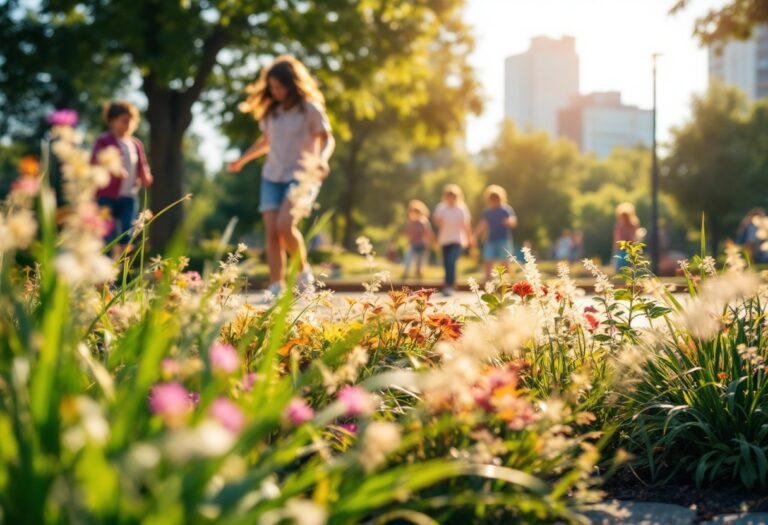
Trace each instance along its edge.
<instances>
[{"instance_id":1,"label":"lower block with brownish left side and pale front, beside lamp post","mask_svg":"<svg viewBox=\"0 0 768 525\"><path fill-rule=\"evenodd\" d=\"M621 93L608 91L573 97L558 114L558 131L579 150L604 159L613 148L651 146L653 112L621 102Z\"/></svg>"}]
</instances>

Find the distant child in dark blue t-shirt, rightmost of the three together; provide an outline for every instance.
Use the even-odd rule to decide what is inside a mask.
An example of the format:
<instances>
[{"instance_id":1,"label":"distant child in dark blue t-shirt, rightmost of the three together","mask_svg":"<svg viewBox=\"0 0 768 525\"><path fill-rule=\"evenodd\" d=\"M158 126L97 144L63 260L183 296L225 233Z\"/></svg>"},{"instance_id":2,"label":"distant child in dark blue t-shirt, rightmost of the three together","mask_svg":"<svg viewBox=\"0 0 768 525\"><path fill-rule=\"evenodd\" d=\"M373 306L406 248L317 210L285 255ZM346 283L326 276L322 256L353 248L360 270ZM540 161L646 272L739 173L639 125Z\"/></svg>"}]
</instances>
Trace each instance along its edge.
<instances>
[{"instance_id":1,"label":"distant child in dark blue t-shirt, rightmost of the three together","mask_svg":"<svg viewBox=\"0 0 768 525\"><path fill-rule=\"evenodd\" d=\"M501 186L491 184L483 192L486 208L483 210L475 235L486 233L483 244L485 278L491 279L496 266L504 266L509 272L509 258L514 253L512 228L517 226L515 210L507 204L507 192Z\"/></svg>"}]
</instances>

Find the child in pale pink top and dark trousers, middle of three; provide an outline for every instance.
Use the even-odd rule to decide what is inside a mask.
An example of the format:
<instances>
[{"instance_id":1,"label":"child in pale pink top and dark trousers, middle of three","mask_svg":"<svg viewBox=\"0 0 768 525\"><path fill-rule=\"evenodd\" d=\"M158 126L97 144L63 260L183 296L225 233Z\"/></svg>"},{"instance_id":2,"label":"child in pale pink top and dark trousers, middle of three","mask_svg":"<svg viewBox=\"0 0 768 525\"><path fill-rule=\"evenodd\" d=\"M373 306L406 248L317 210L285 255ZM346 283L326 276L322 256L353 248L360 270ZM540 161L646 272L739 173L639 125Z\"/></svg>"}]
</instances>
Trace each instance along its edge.
<instances>
[{"instance_id":1,"label":"child in pale pink top and dark trousers, middle of three","mask_svg":"<svg viewBox=\"0 0 768 525\"><path fill-rule=\"evenodd\" d=\"M443 295L453 295L456 285L456 263L464 248L473 245L469 208L464 204L464 192L456 184L443 188L443 200L433 215L437 225L437 242L443 252L445 286Z\"/></svg>"}]
</instances>

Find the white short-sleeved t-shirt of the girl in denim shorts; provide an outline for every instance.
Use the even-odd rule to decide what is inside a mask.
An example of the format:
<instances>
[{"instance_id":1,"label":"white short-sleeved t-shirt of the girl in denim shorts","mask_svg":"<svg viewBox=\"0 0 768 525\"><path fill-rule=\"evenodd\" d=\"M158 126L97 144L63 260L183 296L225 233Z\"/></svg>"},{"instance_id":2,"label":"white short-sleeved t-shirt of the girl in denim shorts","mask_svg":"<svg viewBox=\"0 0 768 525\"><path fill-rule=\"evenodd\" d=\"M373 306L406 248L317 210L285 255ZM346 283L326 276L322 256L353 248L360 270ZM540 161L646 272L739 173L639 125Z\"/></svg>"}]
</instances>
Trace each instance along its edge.
<instances>
[{"instance_id":1,"label":"white short-sleeved t-shirt of the girl in denim shorts","mask_svg":"<svg viewBox=\"0 0 768 525\"><path fill-rule=\"evenodd\" d=\"M331 131L323 107L306 101L285 110L279 107L274 115L259 121L259 128L269 136L269 153L262 176L272 182L291 182L301 171L305 153L317 154L315 137Z\"/></svg>"}]
</instances>

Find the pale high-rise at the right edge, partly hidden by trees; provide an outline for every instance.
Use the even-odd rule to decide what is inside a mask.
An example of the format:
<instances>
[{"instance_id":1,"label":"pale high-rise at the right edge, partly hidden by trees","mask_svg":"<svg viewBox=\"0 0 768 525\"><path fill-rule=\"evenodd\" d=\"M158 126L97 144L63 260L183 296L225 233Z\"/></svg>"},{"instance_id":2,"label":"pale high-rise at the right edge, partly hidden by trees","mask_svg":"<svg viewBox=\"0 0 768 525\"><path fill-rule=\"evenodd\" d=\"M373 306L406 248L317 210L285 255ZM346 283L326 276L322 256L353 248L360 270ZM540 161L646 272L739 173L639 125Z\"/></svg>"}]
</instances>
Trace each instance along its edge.
<instances>
[{"instance_id":1,"label":"pale high-rise at the right edge, partly hidden by trees","mask_svg":"<svg viewBox=\"0 0 768 525\"><path fill-rule=\"evenodd\" d=\"M768 97L768 25L755 28L752 38L709 48L709 76L741 89L749 100Z\"/></svg>"}]
</instances>

